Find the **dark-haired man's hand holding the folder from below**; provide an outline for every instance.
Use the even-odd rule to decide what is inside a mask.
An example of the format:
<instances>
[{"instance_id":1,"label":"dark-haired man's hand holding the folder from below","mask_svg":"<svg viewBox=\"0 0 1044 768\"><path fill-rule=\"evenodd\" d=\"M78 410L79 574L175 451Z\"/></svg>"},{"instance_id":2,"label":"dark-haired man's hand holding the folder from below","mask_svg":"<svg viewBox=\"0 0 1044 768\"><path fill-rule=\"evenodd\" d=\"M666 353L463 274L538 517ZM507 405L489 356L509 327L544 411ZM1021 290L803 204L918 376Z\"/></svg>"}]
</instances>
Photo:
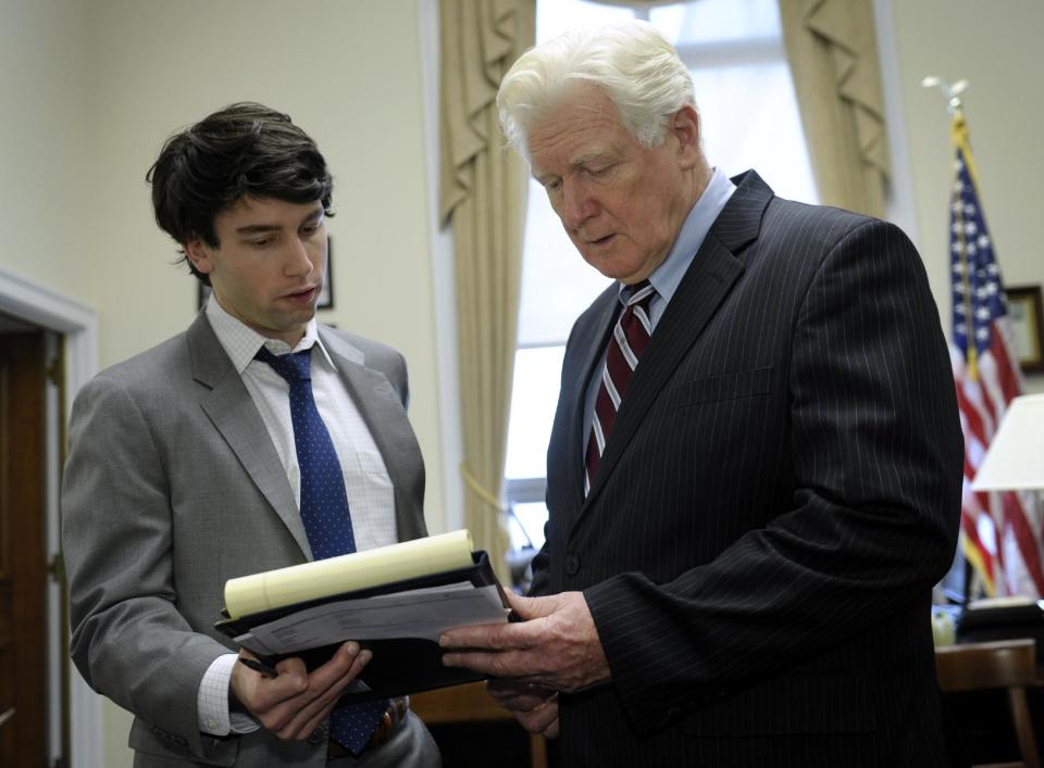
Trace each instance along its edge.
<instances>
[{"instance_id":1,"label":"dark-haired man's hand holding the folder from below","mask_svg":"<svg viewBox=\"0 0 1044 768\"><path fill-rule=\"evenodd\" d=\"M253 657L246 650L240 650L239 655ZM274 678L236 664L232 669L232 693L281 739L308 739L371 656L370 651L360 651L358 643L349 642L311 673L301 659L286 658L275 665L278 676Z\"/></svg>"}]
</instances>

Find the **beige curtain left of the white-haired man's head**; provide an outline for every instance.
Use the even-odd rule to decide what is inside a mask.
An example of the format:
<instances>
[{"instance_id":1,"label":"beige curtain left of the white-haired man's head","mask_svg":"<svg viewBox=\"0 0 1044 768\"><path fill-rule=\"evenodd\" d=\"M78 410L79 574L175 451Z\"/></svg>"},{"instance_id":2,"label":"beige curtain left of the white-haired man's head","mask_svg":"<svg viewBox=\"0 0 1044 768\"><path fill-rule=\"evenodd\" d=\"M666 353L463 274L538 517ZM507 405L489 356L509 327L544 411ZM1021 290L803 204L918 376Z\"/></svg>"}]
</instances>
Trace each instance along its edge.
<instances>
[{"instance_id":1,"label":"beige curtain left of the white-haired man's head","mask_svg":"<svg viewBox=\"0 0 1044 768\"><path fill-rule=\"evenodd\" d=\"M536 0L442 0L439 211L453 231L464 524L507 578L500 494L527 168L497 121L500 78L533 45Z\"/></svg>"}]
</instances>

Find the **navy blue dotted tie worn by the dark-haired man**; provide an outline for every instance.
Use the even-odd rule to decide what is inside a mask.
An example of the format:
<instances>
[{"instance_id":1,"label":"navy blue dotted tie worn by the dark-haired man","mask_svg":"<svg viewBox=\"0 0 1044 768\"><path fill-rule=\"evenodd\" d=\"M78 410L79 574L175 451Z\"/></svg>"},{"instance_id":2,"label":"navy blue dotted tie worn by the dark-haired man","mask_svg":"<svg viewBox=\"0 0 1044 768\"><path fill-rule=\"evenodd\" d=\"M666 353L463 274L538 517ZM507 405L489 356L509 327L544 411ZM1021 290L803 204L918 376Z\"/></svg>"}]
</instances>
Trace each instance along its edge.
<instances>
[{"instance_id":1,"label":"navy blue dotted tie worn by the dark-haired man","mask_svg":"<svg viewBox=\"0 0 1044 768\"><path fill-rule=\"evenodd\" d=\"M340 462L312 396L311 350L276 356L262 347L254 357L271 365L290 386L290 419L301 473L301 521L312 556L323 559L355 552ZM330 735L358 755L387 708L387 701L338 707L331 716Z\"/></svg>"}]
</instances>

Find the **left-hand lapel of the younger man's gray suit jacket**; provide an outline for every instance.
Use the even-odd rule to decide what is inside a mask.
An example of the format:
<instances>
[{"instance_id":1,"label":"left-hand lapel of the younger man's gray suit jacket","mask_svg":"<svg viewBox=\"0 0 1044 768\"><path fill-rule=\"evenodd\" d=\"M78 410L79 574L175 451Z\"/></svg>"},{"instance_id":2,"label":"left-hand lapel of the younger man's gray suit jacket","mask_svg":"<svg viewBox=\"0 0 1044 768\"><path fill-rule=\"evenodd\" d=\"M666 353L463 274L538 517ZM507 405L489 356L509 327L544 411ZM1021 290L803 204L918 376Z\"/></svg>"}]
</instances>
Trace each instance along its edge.
<instances>
[{"instance_id":1,"label":"left-hand lapel of the younger man's gray suit jacket","mask_svg":"<svg viewBox=\"0 0 1044 768\"><path fill-rule=\"evenodd\" d=\"M279 455L250 393L204 314L200 313L189 327L187 340L192 377L210 390L201 399L203 412L290 531L301 552L311 559L312 549Z\"/></svg>"}]
</instances>

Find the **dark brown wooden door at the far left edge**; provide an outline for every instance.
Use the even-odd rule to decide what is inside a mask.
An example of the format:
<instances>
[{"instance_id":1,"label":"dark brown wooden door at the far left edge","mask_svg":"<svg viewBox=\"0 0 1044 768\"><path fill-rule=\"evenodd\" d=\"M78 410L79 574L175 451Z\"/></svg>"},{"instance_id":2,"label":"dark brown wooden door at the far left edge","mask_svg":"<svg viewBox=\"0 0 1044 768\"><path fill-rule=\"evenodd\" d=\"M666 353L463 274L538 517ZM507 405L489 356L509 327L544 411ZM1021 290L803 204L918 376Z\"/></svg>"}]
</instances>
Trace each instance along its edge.
<instances>
[{"instance_id":1,"label":"dark brown wooden door at the far left edge","mask_svg":"<svg viewBox=\"0 0 1044 768\"><path fill-rule=\"evenodd\" d=\"M47 765L45 338L0 335L0 766Z\"/></svg>"}]
</instances>

